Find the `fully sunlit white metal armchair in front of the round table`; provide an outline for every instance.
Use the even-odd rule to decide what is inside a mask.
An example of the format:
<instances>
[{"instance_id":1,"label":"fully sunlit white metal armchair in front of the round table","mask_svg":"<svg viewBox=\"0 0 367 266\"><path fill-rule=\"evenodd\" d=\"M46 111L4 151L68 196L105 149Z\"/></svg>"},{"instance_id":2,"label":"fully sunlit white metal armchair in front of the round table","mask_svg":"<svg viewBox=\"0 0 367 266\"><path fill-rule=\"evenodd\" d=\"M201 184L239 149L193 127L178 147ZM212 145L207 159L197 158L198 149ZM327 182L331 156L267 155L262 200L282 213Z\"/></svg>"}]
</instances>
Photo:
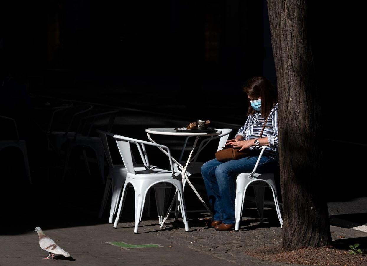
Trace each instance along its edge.
<instances>
[{"instance_id":1,"label":"fully sunlit white metal armchair in front of the round table","mask_svg":"<svg viewBox=\"0 0 367 266\"><path fill-rule=\"evenodd\" d=\"M178 199L181 205L181 213L183 223L185 224L185 231L189 231L189 225L186 220L186 208L185 208L185 199L183 195L183 186L182 186L182 177L181 173L175 172L171 157L170 149L167 146L142 141L139 139L127 138L124 136L115 135L113 136L116 139L117 147L119 148L121 157L123 159L124 165L127 169L126 181L124 184L123 192L121 195L119 210L117 212L117 217L115 220L114 228L117 228L117 224L119 223L119 219L121 216L121 209L123 209L124 199L126 197L126 188L128 184L132 184L135 190L135 227L134 233L138 233L138 226L142 217L142 206L144 205L146 194L150 187L153 185L167 182L177 189ZM151 145L163 148L167 150L167 156L170 162L171 170L162 170L162 169L148 169L148 170L135 170L134 163L132 161L130 143L141 146L143 150L143 155L145 157L145 162L149 165L148 156L146 154L146 150L144 145ZM140 150L139 150L140 152ZM157 202L158 203L158 202Z\"/></svg>"}]
</instances>

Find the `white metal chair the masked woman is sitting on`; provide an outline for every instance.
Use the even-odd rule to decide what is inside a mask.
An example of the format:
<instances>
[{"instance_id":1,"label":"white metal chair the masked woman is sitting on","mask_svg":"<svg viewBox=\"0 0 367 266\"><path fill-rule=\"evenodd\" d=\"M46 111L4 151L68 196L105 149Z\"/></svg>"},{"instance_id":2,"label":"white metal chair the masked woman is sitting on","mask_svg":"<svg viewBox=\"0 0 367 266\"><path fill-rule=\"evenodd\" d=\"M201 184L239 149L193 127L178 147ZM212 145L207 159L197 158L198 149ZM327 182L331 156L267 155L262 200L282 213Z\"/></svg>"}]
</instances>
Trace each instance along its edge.
<instances>
[{"instance_id":1,"label":"white metal chair the masked woman is sitting on","mask_svg":"<svg viewBox=\"0 0 367 266\"><path fill-rule=\"evenodd\" d=\"M237 177L237 185L236 185L236 200L235 200L235 214L236 214L236 227L235 230L239 230L240 221L242 219L242 210L243 203L245 199L246 190L249 185L254 186L255 192L255 201L257 206L257 211L260 216L260 223L264 223L264 189L265 185L269 185L270 189L273 192L273 198L275 203L275 209L278 215L278 219L280 222L280 227L283 226L283 219L281 217L280 206L274 181L273 173L265 173L265 174L256 174L256 169L260 162L261 156L264 153L265 148L268 146L264 146L260 152L259 159L257 160L254 170L251 173L242 173Z\"/></svg>"}]
</instances>

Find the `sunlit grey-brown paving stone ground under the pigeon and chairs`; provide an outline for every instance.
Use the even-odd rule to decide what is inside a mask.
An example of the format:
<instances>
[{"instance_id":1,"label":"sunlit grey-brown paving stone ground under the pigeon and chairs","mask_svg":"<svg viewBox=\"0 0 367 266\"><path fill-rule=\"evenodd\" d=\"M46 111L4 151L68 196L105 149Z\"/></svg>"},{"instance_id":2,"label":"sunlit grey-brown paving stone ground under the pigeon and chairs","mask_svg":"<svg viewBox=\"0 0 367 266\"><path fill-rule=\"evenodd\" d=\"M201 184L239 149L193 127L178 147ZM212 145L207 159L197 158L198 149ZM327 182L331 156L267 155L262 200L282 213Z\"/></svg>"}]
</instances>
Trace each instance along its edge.
<instances>
[{"instance_id":1,"label":"sunlit grey-brown paving stone ground under the pigeon and chairs","mask_svg":"<svg viewBox=\"0 0 367 266\"><path fill-rule=\"evenodd\" d=\"M281 229L272 223L260 225L257 219L244 218L238 232L217 232L203 221L189 221L185 232L182 220L168 220L160 228L157 220L143 220L139 234L134 222L125 221L114 229L111 224L97 224L45 230L73 260L58 256L54 262L44 260L36 232L0 236L0 265L281 265L245 254L247 249L280 245ZM333 240L366 238L367 234L331 226ZM194 242L195 241L195 242ZM161 248L123 249L108 242L133 245L159 244Z\"/></svg>"}]
</instances>

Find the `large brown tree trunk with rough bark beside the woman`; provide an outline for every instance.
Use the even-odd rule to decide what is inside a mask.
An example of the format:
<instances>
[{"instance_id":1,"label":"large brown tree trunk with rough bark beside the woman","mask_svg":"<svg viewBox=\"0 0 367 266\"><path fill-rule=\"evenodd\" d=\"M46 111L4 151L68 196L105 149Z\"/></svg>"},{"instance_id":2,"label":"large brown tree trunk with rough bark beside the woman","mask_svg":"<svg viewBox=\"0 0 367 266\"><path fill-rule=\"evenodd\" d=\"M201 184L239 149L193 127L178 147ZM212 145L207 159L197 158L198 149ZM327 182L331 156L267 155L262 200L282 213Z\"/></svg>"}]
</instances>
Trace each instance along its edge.
<instances>
[{"instance_id":1,"label":"large brown tree trunk with rough bark beside the woman","mask_svg":"<svg viewBox=\"0 0 367 266\"><path fill-rule=\"evenodd\" d=\"M330 245L308 1L268 0L268 10L279 97L283 249Z\"/></svg>"}]
</instances>

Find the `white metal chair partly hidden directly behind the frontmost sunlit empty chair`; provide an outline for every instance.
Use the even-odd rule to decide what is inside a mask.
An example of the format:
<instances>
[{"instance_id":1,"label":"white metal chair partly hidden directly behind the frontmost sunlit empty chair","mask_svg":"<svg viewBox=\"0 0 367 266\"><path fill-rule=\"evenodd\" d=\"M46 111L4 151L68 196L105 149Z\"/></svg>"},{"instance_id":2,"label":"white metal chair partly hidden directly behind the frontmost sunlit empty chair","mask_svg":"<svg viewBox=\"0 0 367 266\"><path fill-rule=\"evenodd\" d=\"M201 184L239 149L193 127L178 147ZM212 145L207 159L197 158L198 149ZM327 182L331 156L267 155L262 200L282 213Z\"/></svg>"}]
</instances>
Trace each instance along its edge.
<instances>
[{"instance_id":1,"label":"white metal chair partly hidden directly behind the frontmost sunlit empty chair","mask_svg":"<svg viewBox=\"0 0 367 266\"><path fill-rule=\"evenodd\" d=\"M110 132L97 130L101 141L103 145L103 150L105 151L106 159L109 165L109 173L106 181L106 187L105 192L103 194L102 203L101 203L101 209L99 210L99 218L102 218L103 211L106 208L106 203L108 199L108 195L112 188L112 197L111 197L111 206L110 206L110 216L108 222L112 224L113 216L116 213L118 201L121 195L122 187L126 180L127 170L123 164L113 164L112 157L110 153L110 148L108 145L108 137L116 135ZM134 160L134 156L132 156L132 161L134 163L134 170L135 171L142 171L142 170L148 170L148 169L157 169L156 166L151 166L146 163L145 157L143 155L143 151L141 150L140 146L138 146L138 150L142 159L143 164L137 164ZM157 212L159 216L159 224L161 223L162 216L164 215L164 197L165 197L165 189L161 186L155 186L155 196L156 196L156 202L157 202ZM150 193L147 194L147 200L145 204L145 209L147 212L147 215L150 216L149 213L149 206L150 206Z\"/></svg>"}]
</instances>

